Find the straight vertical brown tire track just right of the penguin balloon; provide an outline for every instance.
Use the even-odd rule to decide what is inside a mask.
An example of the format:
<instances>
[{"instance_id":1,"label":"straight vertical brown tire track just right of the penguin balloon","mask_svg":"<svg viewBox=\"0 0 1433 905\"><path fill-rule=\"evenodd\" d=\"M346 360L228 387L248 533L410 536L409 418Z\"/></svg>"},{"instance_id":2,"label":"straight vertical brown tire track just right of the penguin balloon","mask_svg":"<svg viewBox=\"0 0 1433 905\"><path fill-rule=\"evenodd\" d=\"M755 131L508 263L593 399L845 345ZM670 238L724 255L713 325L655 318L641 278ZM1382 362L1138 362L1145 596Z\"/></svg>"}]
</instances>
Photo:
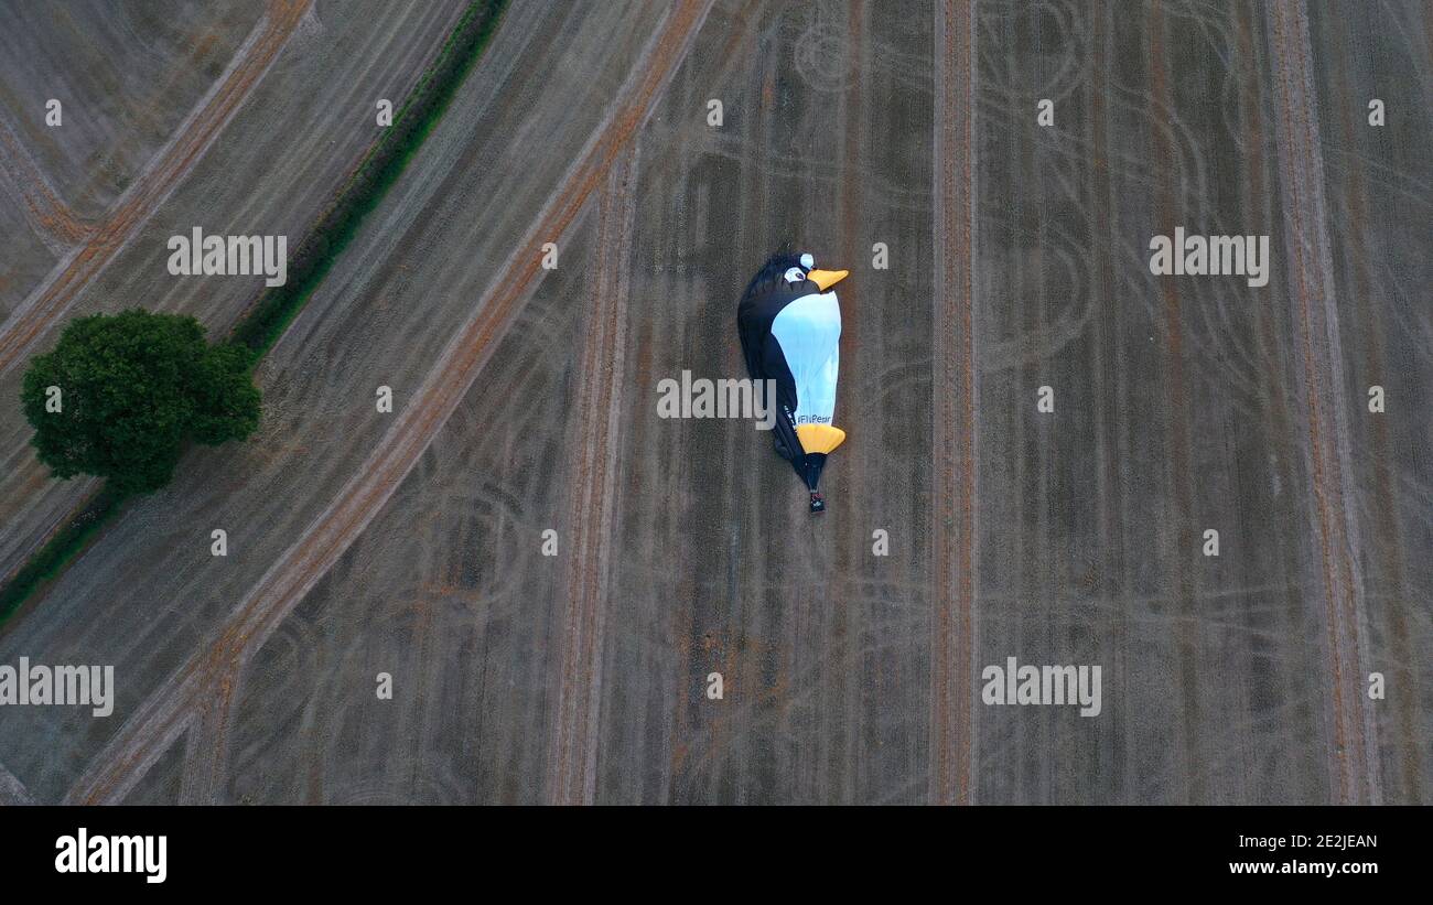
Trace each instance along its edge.
<instances>
[{"instance_id":1,"label":"straight vertical brown tire track just right of the penguin balloon","mask_svg":"<svg viewBox=\"0 0 1433 905\"><path fill-rule=\"evenodd\" d=\"M974 758L974 32L973 0L936 6L929 793L943 805L970 803Z\"/></svg>"}]
</instances>

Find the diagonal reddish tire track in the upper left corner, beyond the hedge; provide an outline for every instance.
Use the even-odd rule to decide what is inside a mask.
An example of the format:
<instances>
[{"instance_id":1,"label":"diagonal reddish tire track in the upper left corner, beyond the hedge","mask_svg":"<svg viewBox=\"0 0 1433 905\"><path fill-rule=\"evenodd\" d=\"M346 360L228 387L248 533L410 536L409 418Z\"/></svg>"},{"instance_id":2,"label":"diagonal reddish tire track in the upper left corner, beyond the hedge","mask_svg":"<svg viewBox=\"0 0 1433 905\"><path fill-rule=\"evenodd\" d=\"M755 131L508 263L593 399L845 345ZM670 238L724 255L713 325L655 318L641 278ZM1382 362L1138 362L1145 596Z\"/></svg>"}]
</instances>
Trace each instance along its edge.
<instances>
[{"instance_id":1,"label":"diagonal reddish tire track in the upper left corner, beyond the hedge","mask_svg":"<svg viewBox=\"0 0 1433 905\"><path fill-rule=\"evenodd\" d=\"M109 219L76 246L0 326L0 374L23 361L80 291L138 235L188 175L288 43L310 0L269 0L268 11L175 136L120 196Z\"/></svg>"}]
</instances>

